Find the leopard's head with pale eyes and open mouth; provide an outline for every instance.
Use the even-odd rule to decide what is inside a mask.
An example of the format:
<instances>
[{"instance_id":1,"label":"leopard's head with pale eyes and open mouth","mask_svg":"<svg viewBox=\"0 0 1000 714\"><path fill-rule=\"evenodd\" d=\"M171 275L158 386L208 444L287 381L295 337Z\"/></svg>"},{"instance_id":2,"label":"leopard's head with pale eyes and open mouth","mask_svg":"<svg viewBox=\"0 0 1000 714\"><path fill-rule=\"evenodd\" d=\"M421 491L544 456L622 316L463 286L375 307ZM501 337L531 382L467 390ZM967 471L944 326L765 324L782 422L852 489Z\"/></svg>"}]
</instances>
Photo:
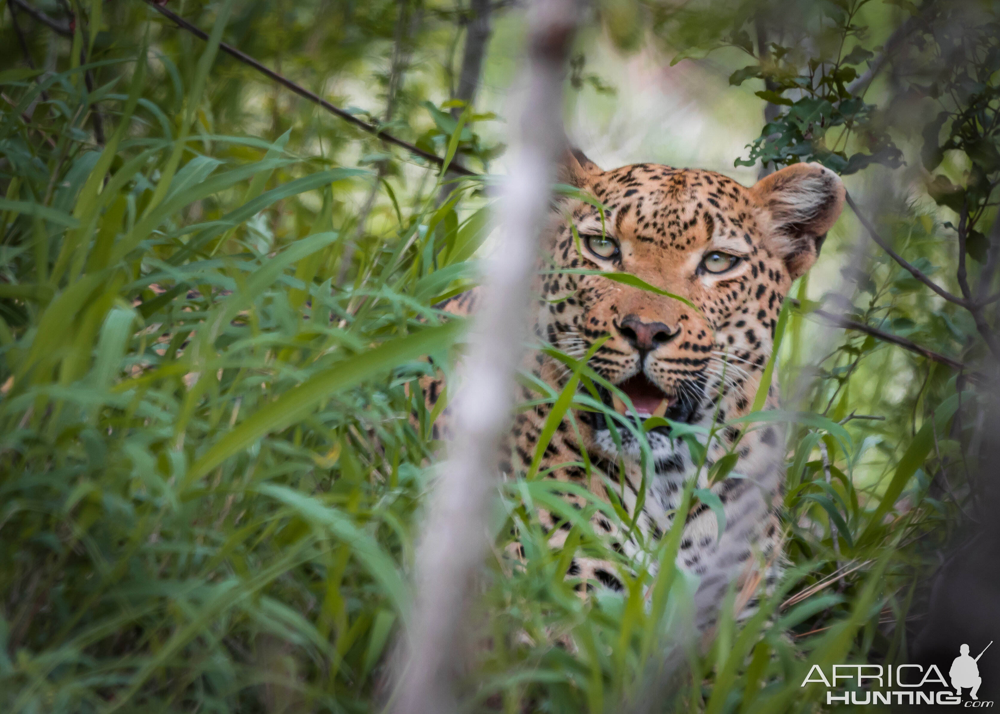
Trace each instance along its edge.
<instances>
[{"instance_id":1,"label":"leopard's head with pale eyes and open mouth","mask_svg":"<svg viewBox=\"0 0 1000 714\"><path fill-rule=\"evenodd\" d=\"M596 198L605 215L602 222L596 206L572 197L553 215L545 254L554 265L543 273L538 308L543 338L580 357L608 335L589 365L640 416L699 423L749 411L782 302L840 215L839 177L796 164L746 188L712 171L657 164L602 171L573 150L559 180ZM626 273L684 300L566 270ZM602 396L625 413L621 400ZM607 428L602 417L592 426Z\"/></svg>"}]
</instances>

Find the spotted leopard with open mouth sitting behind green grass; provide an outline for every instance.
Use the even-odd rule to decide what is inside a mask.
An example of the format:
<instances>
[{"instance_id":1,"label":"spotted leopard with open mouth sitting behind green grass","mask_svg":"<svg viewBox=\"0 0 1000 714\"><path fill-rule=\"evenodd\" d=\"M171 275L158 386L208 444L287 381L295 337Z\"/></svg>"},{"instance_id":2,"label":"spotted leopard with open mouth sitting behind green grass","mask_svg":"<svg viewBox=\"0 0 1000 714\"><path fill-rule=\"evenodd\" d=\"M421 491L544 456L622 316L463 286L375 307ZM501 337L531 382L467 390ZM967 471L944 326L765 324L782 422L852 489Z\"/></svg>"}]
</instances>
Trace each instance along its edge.
<instances>
[{"instance_id":1,"label":"spotted leopard with open mouth sitting behind green grass","mask_svg":"<svg viewBox=\"0 0 1000 714\"><path fill-rule=\"evenodd\" d=\"M529 318L537 347L524 367L559 393L572 370L557 353L585 359L605 385L589 385L605 409L568 409L533 464L553 403L519 387L519 399L533 406L513 417L499 469L616 499L626 516L617 524L606 509L588 509L579 490L561 496L592 514L593 531L626 563L670 530L685 484L696 479L717 501L689 499L677 551L678 567L697 578L695 621L711 625L734 583L738 609L752 612L781 572L785 435L777 420L732 422L754 409L782 307L841 213L843 183L819 163L792 164L750 187L715 171L653 163L604 171L575 148L557 174L573 190L554 198L540 233ZM474 315L480 290L437 307ZM450 408L437 405L444 378L422 386L428 410L437 406L434 436L447 439ZM582 383L577 389L586 394ZM761 411L780 408L776 380L764 396ZM713 425L704 454L692 452L680 432ZM550 547L561 548L570 519L544 509L538 519ZM584 591L621 591L621 567L577 551L567 578Z\"/></svg>"}]
</instances>

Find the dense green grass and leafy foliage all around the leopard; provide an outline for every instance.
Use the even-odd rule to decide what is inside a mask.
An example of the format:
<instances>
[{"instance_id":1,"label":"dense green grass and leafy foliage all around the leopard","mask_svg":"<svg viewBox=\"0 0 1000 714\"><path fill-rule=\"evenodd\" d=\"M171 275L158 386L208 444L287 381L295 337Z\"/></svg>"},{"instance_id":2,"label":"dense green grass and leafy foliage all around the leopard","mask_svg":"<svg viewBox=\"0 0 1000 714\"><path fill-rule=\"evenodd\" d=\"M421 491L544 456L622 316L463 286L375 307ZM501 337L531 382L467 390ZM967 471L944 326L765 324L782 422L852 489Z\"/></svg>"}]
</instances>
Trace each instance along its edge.
<instances>
[{"instance_id":1,"label":"dense green grass and leafy foliage all around the leopard","mask_svg":"<svg viewBox=\"0 0 1000 714\"><path fill-rule=\"evenodd\" d=\"M4 6L0 708L374 711L392 696L382 674L441 448L415 378L422 356L460 347L463 323L432 305L476 279L488 181L442 176L218 43L486 174L502 117L458 98L476 17L428 0L168 5L209 41L138 0ZM502 95L523 9L490 7L502 43L485 72ZM655 582L626 571L623 595L585 601L565 580L574 550L618 556L572 511L550 550L533 510L566 508L515 479L488 524L467 703L806 711L823 696L799 686L813 664L906 660L934 554L978 507L997 8L606 0L588 19L578 101L618 96L600 52L717 63L727 91L760 98L729 161L849 175L859 217L905 265L845 216L821 287L794 288L774 377L790 567L758 614L724 616L669 688L661 654L691 588L671 566L677 532L649 545ZM523 566L504 555L512 524Z\"/></svg>"}]
</instances>

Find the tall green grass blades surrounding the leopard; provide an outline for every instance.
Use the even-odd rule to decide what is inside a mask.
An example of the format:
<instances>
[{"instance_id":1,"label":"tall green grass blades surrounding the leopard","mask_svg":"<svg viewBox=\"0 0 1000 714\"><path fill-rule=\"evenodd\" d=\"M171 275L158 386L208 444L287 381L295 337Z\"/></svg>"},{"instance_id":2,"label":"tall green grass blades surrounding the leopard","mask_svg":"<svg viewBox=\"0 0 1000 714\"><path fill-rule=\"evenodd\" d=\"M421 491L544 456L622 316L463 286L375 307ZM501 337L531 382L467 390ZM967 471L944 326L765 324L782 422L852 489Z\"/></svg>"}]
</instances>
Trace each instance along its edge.
<instances>
[{"instance_id":1,"label":"tall green grass blades surrounding the leopard","mask_svg":"<svg viewBox=\"0 0 1000 714\"><path fill-rule=\"evenodd\" d=\"M176 121L144 94L145 48L127 66L88 65L119 72L93 93L84 66L0 75L16 105L0 121L4 712L360 712L392 695L376 689L409 616L440 449L415 379L423 355L447 364L460 348L462 322L431 306L474 279L486 213L464 206L480 184L441 205L436 190L379 184L389 225L337 284L358 218L338 202L378 179L297 154L287 134L204 131L228 7ZM98 100L103 147L87 124ZM893 226L940 250L932 216ZM894 266L871 275L860 317L947 352L971 334ZM807 711L823 696L800 686L813 664L905 660L926 554L959 508L928 476L961 438L955 379L850 333L807 366L796 290L777 376L805 373L807 387L784 415L778 590L741 623L731 596L708 648L692 645L694 583L673 566L674 529L648 544L656 578L633 564L624 593L582 600L565 577L573 554L620 556L551 483L511 480L488 524L467 710ZM921 379L872 387L906 370ZM539 507L573 524L562 549ZM514 532L523 563L504 555Z\"/></svg>"}]
</instances>

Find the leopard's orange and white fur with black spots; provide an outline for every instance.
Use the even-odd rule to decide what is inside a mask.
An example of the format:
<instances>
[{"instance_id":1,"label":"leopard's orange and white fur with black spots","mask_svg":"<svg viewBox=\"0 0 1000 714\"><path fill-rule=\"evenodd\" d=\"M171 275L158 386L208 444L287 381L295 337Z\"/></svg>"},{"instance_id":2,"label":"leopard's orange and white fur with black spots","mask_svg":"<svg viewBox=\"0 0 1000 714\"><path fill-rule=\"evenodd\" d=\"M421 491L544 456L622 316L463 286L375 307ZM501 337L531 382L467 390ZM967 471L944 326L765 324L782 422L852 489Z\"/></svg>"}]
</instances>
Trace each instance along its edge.
<instances>
[{"instance_id":1,"label":"leopard's orange and white fur with black spots","mask_svg":"<svg viewBox=\"0 0 1000 714\"><path fill-rule=\"evenodd\" d=\"M818 164L797 164L761 180L752 188L711 171L636 164L601 171L578 151L568 152L560 179L591 193L606 207L605 230L618 241L620 256L601 259L574 239L567 216L581 239L601 235L597 208L582 200L563 200L554 211L542 239L542 254L555 270L586 269L627 272L665 291L683 296L693 310L676 299L612 281L601 275L540 271L533 312L538 337L570 355L580 357L605 335L608 340L589 361L598 374L620 384L642 371L674 399L667 413L675 421L708 427L745 415L771 354L778 313L791 282L815 261L820 245L840 214L844 189L833 172ZM740 261L728 272L707 272L701 261L709 251L723 251ZM547 267L543 261L542 267ZM548 274L546 274L548 273ZM560 300L560 298L563 298ZM442 305L456 313L475 310L471 291ZM638 321L638 323L636 322ZM659 340L637 340L635 329L660 323ZM646 331L648 337L649 331ZM663 339L667 337L667 339ZM652 338L651 338L652 339ZM647 349L640 349L645 346ZM529 368L556 390L567 377L564 365L542 352L533 353ZM428 406L441 393L439 382L425 383ZM609 395L606 403L611 404ZM524 390L525 400L537 395ZM778 406L776 389L769 390L766 407ZM445 417L447 410L445 410ZM549 406L519 413L514 420L510 453L502 463L507 474L524 472L531 463ZM548 478L584 483L578 466L558 466L582 460L581 449L624 492L630 516L642 480L639 444L619 429L620 454L603 415L574 411L582 437L567 416L548 447L542 468L556 467ZM436 428L447 430L446 421ZM648 434L652 472L638 524L644 536L664 533L679 505L685 480L694 471L691 454L667 428ZM731 476L711 488L724 504L726 529L717 537L716 516L704 504L692 510L685 525L679 562L701 576L699 602L710 609L733 578L746 589L756 587L753 562L773 560L780 538L775 504L783 481L783 436L777 426L740 434L728 427L709 447L707 466L733 448L738 461ZM624 456L624 459L620 457ZM624 469L620 464L624 463ZM698 486L706 487L702 469ZM624 480L624 484L622 481ZM584 483L607 499L600 478ZM616 489L617 490L617 489ZM565 496L577 507L584 499ZM541 512L543 526L554 547L565 541L570 525ZM631 557L639 551L601 514L592 524L615 547ZM622 542L625 541L625 542ZM568 574L581 583L621 588L614 566L576 558ZM749 600L752 593L747 593ZM753 601L750 600L752 605ZM712 613L699 616L705 623Z\"/></svg>"}]
</instances>

